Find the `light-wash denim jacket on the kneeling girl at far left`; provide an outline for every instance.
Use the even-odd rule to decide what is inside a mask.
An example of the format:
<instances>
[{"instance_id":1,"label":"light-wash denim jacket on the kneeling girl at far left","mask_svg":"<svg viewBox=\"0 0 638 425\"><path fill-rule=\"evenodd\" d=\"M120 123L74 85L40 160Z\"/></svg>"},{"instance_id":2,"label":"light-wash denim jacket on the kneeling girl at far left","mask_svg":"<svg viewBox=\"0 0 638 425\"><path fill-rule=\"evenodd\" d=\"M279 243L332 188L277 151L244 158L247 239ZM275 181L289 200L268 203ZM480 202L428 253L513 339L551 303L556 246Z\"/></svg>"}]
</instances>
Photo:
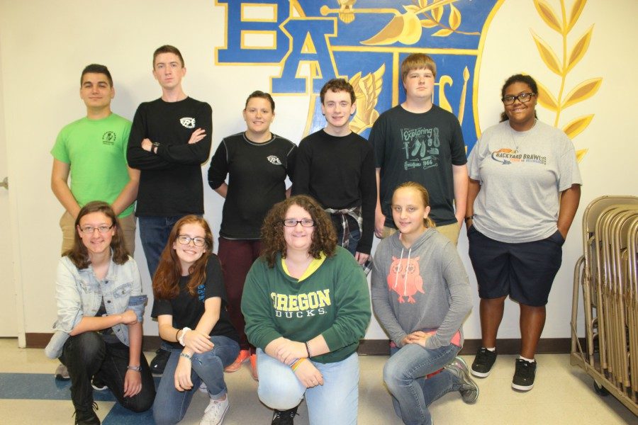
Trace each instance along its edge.
<instances>
[{"instance_id":1,"label":"light-wash denim jacket on the kneeling girl at far left","mask_svg":"<svg viewBox=\"0 0 638 425\"><path fill-rule=\"evenodd\" d=\"M57 320L53 324L55 333L45 348L48 358L60 357L62 347L69 338L69 332L82 320L94 317L104 298L106 314L120 314L133 310L142 322L147 296L142 295L142 280L138 264L128 257L119 265L113 263L103 280L98 280L93 267L78 270L68 256L57 264L55 298L57 300ZM128 326L116 324L113 332L123 344L128 346Z\"/></svg>"}]
</instances>

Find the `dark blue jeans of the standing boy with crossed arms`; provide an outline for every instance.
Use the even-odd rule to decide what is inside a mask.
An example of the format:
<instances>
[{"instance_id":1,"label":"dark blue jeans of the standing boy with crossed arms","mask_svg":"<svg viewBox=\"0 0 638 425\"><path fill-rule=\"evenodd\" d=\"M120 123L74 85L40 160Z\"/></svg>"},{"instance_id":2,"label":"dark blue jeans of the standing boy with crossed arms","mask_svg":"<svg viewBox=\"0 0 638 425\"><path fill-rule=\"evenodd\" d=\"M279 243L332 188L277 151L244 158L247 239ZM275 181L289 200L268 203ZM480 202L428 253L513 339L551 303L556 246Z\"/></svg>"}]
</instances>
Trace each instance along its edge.
<instances>
[{"instance_id":1,"label":"dark blue jeans of the standing boy with crossed arms","mask_svg":"<svg viewBox=\"0 0 638 425\"><path fill-rule=\"evenodd\" d=\"M148 273L151 280L157 266L159 265L159 257L168 242L169 234L173 226L184 215L174 215L172 217L138 217L138 225L140 227L140 240L142 241L142 249L146 257Z\"/></svg>"}]
</instances>

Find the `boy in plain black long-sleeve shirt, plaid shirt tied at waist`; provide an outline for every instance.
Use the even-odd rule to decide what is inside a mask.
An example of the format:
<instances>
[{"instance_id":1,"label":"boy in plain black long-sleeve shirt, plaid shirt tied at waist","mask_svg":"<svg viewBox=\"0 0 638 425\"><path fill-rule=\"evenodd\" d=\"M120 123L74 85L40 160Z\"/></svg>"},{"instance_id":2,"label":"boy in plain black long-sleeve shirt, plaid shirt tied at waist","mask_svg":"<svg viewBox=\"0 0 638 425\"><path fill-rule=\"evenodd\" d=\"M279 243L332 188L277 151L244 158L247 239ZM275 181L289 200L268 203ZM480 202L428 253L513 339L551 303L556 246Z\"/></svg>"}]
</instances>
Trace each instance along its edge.
<instances>
[{"instance_id":1,"label":"boy in plain black long-sleeve shirt, plaid shirt tied at waist","mask_svg":"<svg viewBox=\"0 0 638 425\"><path fill-rule=\"evenodd\" d=\"M374 152L349 128L357 108L354 89L345 79L331 79L320 91L325 128L299 144L292 193L307 194L332 215L337 239L364 264L374 232L376 176Z\"/></svg>"}]
</instances>

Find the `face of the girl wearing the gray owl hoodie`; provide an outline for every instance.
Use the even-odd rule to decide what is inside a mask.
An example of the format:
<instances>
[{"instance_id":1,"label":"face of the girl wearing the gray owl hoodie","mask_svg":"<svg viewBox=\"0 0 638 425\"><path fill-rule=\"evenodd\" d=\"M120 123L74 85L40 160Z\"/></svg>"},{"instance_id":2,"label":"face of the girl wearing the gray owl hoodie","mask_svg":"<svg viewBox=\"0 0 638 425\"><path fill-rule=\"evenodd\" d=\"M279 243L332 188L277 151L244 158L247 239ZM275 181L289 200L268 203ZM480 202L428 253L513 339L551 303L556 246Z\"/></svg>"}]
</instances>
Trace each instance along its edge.
<instances>
[{"instance_id":1,"label":"face of the girl wearing the gray owl hoodie","mask_svg":"<svg viewBox=\"0 0 638 425\"><path fill-rule=\"evenodd\" d=\"M425 232L425 218L430 207L423 204L421 194L413 188L400 188L392 196L392 219L402 236L418 237Z\"/></svg>"}]
</instances>

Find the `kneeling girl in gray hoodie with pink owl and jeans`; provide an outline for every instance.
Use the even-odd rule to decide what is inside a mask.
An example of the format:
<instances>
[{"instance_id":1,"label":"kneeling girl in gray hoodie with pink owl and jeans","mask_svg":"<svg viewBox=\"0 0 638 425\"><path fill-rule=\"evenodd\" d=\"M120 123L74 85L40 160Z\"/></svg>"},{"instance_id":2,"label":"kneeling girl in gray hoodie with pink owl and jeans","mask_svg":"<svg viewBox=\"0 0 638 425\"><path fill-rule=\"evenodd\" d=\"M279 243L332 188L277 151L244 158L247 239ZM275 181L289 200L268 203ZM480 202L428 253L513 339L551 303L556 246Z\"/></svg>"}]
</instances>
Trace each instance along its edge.
<instances>
[{"instance_id":1,"label":"kneeling girl in gray hoodie with pink owl and jeans","mask_svg":"<svg viewBox=\"0 0 638 425\"><path fill-rule=\"evenodd\" d=\"M404 424L432 424L427 407L450 391L478 398L465 362L461 324L471 310L469 281L454 244L427 215L423 186L406 182L392 197L398 232L379 244L372 268L372 306L390 336L384 382Z\"/></svg>"}]
</instances>

